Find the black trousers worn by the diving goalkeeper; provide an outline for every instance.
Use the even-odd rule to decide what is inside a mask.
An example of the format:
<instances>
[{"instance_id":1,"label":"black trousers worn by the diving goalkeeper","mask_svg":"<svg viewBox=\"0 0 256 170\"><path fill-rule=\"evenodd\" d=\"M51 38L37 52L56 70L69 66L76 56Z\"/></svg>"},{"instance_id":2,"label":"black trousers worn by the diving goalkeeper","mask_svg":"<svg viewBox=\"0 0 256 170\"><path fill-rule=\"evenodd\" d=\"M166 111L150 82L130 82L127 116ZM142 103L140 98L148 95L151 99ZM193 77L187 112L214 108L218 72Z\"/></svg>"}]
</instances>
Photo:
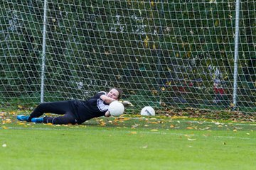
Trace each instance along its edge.
<instances>
[{"instance_id":1,"label":"black trousers worn by the diving goalkeeper","mask_svg":"<svg viewBox=\"0 0 256 170\"><path fill-rule=\"evenodd\" d=\"M44 117L43 123L53 123L53 124L76 124L78 120L73 113L73 106L69 101L57 101L39 104L36 109L31 113L31 118L38 118L43 113L55 113L58 117Z\"/></svg>"}]
</instances>

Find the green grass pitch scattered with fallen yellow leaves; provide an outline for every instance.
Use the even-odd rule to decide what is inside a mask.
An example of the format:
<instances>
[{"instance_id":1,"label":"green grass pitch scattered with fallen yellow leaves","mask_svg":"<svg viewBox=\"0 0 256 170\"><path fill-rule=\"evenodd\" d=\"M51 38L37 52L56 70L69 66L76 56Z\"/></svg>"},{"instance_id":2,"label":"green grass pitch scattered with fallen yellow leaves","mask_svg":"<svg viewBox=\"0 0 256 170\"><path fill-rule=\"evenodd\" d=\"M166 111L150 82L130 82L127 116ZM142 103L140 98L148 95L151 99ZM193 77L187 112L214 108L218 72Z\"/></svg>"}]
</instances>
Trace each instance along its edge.
<instances>
[{"instance_id":1,"label":"green grass pitch scattered with fallen yellow leaves","mask_svg":"<svg viewBox=\"0 0 256 170\"><path fill-rule=\"evenodd\" d=\"M45 125L1 112L0 169L256 169L256 123L124 115Z\"/></svg>"}]
</instances>

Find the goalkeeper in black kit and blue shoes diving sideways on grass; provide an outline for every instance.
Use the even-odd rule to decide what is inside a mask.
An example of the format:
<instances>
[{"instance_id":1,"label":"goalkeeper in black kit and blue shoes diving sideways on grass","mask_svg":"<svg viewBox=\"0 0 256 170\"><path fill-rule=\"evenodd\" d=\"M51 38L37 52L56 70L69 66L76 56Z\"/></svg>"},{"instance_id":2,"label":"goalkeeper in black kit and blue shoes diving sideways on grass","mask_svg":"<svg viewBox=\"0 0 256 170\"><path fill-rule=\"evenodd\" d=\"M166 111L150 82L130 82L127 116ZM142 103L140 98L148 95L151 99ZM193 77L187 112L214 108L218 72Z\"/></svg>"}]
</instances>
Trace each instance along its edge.
<instances>
[{"instance_id":1,"label":"goalkeeper in black kit and blue shoes diving sideways on grass","mask_svg":"<svg viewBox=\"0 0 256 170\"><path fill-rule=\"evenodd\" d=\"M108 93L100 91L87 101L57 101L39 104L31 115L18 115L17 119L33 123L82 124L86 120L100 116L109 117L108 107L112 101L119 101L122 89L112 88ZM124 106L132 106L129 101L122 101ZM43 113L55 113L58 117L43 117Z\"/></svg>"}]
</instances>

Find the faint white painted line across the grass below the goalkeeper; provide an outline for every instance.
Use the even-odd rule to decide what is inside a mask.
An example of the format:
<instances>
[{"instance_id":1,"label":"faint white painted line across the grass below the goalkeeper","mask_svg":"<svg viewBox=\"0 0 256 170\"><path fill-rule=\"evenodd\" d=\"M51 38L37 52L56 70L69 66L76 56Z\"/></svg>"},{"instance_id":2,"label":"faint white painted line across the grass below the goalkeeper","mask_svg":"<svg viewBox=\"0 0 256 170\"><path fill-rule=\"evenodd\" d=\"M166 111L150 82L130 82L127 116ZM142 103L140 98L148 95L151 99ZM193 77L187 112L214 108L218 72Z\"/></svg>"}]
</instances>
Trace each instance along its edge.
<instances>
[{"instance_id":1,"label":"faint white painted line across the grass below the goalkeeper","mask_svg":"<svg viewBox=\"0 0 256 170\"><path fill-rule=\"evenodd\" d=\"M8 129L14 129L14 130L68 130L68 131L83 131L82 129L80 128L67 128L67 129L63 129L63 128L18 128L18 127L8 127ZM85 128L86 130L86 128ZM92 130L92 129L90 129ZM122 128L122 130L124 130L124 128ZM101 130L102 132L110 132L110 130ZM134 131L134 129L131 129L131 130L125 130L125 132L127 133L130 133L131 131ZM115 132L115 131L112 131L112 132ZM116 131L117 132L117 131ZM196 135L196 134L193 134L193 135L188 135L188 133L176 133L176 132L171 132L171 131L168 131L168 132L151 132L151 131L148 131L148 132L145 132L145 131L139 131L138 133L144 133L144 134L157 134L157 135L175 135L175 136L190 136L190 137L201 137L202 135ZM213 137L213 138L223 138L223 139L238 139L238 140L256 140L255 137L234 137L234 136L214 136L214 135L209 135L209 136L206 136L206 138L208 137Z\"/></svg>"}]
</instances>

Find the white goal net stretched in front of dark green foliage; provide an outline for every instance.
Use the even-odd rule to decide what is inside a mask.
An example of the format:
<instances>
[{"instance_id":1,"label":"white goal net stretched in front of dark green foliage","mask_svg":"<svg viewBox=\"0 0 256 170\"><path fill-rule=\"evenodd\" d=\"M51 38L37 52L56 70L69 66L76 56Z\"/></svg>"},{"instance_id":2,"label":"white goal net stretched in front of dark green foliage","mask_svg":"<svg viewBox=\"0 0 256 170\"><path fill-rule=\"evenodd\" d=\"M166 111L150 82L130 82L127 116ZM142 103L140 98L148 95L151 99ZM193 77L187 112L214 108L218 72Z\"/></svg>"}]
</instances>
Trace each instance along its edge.
<instances>
[{"instance_id":1,"label":"white goal net stretched in front of dark green foliage","mask_svg":"<svg viewBox=\"0 0 256 170\"><path fill-rule=\"evenodd\" d=\"M114 86L138 109L255 113L255 8L253 0L3 0L0 104L85 100Z\"/></svg>"}]
</instances>

